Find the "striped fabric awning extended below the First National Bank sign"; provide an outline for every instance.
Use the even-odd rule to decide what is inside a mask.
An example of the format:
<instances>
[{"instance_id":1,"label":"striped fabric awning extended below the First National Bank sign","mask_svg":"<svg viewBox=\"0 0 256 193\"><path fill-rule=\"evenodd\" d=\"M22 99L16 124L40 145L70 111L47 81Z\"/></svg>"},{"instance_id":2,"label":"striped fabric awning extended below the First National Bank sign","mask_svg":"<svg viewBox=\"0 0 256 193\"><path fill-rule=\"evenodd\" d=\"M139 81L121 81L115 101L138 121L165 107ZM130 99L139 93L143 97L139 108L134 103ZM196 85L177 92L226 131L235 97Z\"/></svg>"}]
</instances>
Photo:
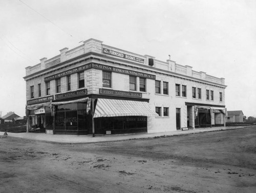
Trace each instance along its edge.
<instances>
[{"instance_id":1,"label":"striped fabric awning extended below the First National Bank sign","mask_svg":"<svg viewBox=\"0 0 256 193\"><path fill-rule=\"evenodd\" d=\"M112 116L157 116L147 102L98 99L94 118Z\"/></svg>"}]
</instances>

